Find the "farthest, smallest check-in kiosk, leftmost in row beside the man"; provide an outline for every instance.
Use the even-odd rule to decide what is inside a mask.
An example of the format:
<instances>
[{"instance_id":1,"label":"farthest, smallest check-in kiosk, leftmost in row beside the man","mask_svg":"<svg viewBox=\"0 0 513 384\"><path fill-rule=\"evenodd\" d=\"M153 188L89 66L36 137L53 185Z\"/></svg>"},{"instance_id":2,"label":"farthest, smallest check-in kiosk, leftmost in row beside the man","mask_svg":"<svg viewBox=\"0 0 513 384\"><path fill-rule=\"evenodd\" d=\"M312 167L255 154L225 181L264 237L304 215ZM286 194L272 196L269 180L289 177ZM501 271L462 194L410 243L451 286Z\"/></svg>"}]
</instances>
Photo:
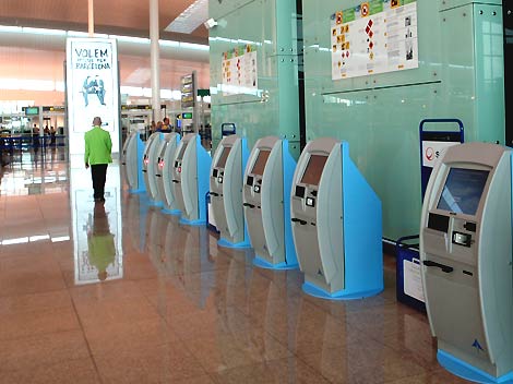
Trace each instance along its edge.
<instances>
[{"instance_id":1,"label":"farthest, smallest check-in kiosk, leftmost in row beside the man","mask_svg":"<svg viewBox=\"0 0 513 384\"><path fill-rule=\"evenodd\" d=\"M139 131L132 132L124 142L122 152L122 166L130 193L146 192L143 177L144 143Z\"/></svg>"}]
</instances>

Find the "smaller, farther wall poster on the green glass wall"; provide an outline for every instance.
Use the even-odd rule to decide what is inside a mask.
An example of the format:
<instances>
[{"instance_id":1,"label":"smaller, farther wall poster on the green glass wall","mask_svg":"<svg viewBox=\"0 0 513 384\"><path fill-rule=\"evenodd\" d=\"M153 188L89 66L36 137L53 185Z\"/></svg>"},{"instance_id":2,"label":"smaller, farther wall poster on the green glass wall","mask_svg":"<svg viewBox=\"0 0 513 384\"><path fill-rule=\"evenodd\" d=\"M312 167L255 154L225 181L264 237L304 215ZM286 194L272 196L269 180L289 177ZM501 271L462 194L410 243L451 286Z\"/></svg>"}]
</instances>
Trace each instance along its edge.
<instances>
[{"instance_id":1,"label":"smaller, farther wall poster on the green glass wall","mask_svg":"<svg viewBox=\"0 0 513 384\"><path fill-rule=\"evenodd\" d=\"M254 94L258 89L256 48L252 45L223 52L223 95Z\"/></svg>"}]
</instances>

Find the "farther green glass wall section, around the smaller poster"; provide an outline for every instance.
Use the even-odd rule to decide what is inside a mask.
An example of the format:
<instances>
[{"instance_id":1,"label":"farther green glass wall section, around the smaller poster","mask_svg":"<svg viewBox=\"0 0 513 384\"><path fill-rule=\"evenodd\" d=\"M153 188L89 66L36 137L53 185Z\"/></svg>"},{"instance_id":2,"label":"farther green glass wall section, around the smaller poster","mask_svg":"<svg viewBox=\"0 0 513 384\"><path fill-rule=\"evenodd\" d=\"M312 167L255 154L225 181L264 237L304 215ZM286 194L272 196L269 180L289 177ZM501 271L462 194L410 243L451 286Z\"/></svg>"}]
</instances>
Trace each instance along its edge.
<instances>
[{"instance_id":1,"label":"farther green glass wall section, around the smaller poster","mask_svg":"<svg viewBox=\"0 0 513 384\"><path fill-rule=\"evenodd\" d=\"M220 141L220 125L234 122L237 133L252 147L265 135L290 141L299 155L299 91L296 1L210 1L218 22L210 29L213 149ZM223 53L251 44L258 55L258 91L224 95Z\"/></svg>"}]
</instances>

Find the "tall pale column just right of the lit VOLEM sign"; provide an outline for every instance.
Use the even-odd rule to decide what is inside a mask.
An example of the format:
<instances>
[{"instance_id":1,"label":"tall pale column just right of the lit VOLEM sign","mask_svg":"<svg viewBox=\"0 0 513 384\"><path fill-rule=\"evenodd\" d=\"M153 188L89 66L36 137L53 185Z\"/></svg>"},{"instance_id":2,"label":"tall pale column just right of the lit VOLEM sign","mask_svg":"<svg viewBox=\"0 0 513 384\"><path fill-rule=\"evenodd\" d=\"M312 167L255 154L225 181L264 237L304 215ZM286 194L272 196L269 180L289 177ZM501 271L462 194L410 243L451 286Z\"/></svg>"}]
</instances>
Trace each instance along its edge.
<instances>
[{"instance_id":1,"label":"tall pale column just right of the lit VOLEM sign","mask_svg":"<svg viewBox=\"0 0 513 384\"><path fill-rule=\"evenodd\" d=\"M150 40L152 67L152 110L155 122L162 120L160 116L160 53L158 47L158 0L150 0Z\"/></svg>"}]
</instances>

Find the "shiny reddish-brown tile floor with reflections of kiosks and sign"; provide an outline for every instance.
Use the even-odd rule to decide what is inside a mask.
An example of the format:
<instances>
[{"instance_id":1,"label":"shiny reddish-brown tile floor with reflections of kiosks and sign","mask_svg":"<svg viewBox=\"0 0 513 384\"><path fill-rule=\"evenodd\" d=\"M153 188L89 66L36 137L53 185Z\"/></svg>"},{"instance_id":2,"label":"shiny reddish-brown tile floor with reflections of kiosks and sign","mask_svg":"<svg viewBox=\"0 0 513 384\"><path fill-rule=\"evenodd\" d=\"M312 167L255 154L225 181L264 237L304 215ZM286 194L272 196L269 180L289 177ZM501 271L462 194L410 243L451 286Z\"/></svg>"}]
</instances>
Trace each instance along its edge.
<instances>
[{"instance_id":1,"label":"shiny reddish-brown tile floor with reflections of kiosks and sign","mask_svg":"<svg viewBox=\"0 0 513 384\"><path fill-rule=\"evenodd\" d=\"M392 257L381 295L311 298L298 271L128 194L116 164L95 207L88 172L55 155L0 179L0 383L464 382L396 302Z\"/></svg>"}]
</instances>

